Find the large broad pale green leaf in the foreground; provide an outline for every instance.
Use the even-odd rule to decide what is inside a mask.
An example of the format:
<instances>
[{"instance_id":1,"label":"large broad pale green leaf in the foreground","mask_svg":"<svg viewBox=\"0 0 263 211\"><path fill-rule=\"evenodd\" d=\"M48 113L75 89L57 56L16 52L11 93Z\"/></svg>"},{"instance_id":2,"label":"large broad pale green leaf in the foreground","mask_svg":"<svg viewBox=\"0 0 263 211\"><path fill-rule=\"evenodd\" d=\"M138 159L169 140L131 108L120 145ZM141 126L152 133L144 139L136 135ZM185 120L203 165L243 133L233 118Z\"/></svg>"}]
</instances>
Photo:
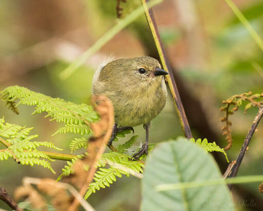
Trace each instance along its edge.
<instances>
[{"instance_id":1,"label":"large broad pale green leaf in the foreground","mask_svg":"<svg viewBox=\"0 0 263 211\"><path fill-rule=\"evenodd\" d=\"M148 157L142 180L141 210L234 210L226 185L157 191L156 186L218 180L222 175L211 154L185 138L160 144Z\"/></svg>"}]
</instances>

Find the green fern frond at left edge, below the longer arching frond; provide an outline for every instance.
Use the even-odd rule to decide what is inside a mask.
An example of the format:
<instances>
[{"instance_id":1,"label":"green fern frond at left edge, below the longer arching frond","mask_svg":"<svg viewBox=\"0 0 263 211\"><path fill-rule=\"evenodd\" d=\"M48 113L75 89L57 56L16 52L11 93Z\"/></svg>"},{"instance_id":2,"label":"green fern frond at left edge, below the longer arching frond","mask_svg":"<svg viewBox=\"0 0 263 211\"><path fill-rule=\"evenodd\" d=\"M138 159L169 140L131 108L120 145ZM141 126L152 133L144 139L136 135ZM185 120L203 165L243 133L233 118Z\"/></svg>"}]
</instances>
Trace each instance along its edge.
<instances>
[{"instance_id":1,"label":"green fern frond at left edge, below the longer arching frond","mask_svg":"<svg viewBox=\"0 0 263 211\"><path fill-rule=\"evenodd\" d=\"M49 163L53 160L44 152L37 150L37 147L44 146L56 150L62 149L54 146L54 144L50 142L32 141L32 139L38 136L29 135L32 129L33 128L25 128L8 122L5 123L4 118L0 118L0 143L7 147L7 149L0 150L0 160L3 161L12 157L21 164L31 166L41 165L55 173Z\"/></svg>"}]
</instances>

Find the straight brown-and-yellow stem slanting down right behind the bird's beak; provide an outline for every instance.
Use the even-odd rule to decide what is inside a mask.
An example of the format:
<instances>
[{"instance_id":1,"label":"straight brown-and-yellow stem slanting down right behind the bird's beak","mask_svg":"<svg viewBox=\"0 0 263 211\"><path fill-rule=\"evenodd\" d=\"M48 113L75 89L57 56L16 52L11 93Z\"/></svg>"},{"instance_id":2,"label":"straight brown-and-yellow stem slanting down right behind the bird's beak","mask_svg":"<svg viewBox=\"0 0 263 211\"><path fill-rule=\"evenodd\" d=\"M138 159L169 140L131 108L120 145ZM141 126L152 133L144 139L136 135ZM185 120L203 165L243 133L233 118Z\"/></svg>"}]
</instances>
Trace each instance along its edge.
<instances>
[{"instance_id":1,"label":"straight brown-and-yellow stem slanting down right behind the bird's beak","mask_svg":"<svg viewBox=\"0 0 263 211\"><path fill-rule=\"evenodd\" d=\"M150 9L147 5L147 2L149 2L149 0L141 0L141 2L142 2L143 7L144 7L144 12L146 15L147 22L149 24L149 27L150 27L152 34L153 34L153 37L154 37L154 41L155 41L155 44L156 44L156 47L157 47L157 50L159 53L159 57L160 57L162 66L163 66L164 70L169 73L169 75L166 75L166 79L168 81L171 93L173 95L173 99L175 102L175 108L176 108L176 111L177 111L177 114L178 114L178 117L180 120L182 130L183 130L186 138L190 139L193 137L192 132L190 130L190 126L189 126L187 117L186 117L185 112L184 112L183 104L182 104L182 101L181 101L181 98L180 98L180 95L179 95L179 92L178 92L178 89L177 89L177 86L176 86L176 83L174 80L172 69L170 67L168 59L167 59L165 52L164 52L164 47L162 45L160 34L159 34L159 31L158 31L158 28L157 28L157 25L155 22L153 10Z\"/></svg>"}]
</instances>

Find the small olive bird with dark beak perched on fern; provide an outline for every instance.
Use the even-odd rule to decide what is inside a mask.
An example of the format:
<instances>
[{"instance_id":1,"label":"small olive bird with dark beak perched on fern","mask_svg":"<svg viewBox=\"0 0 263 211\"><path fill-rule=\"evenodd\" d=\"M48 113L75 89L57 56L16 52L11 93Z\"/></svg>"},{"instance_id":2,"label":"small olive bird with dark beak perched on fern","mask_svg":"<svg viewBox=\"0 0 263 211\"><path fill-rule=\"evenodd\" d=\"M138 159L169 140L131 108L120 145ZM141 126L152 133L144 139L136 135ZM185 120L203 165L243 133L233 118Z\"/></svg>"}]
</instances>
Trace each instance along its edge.
<instances>
[{"instance_id":1,"label":"small olive bird with dark beak perched on fern","mask_svg":"<svg viewBox=\"0 0 263 211\"><path fill-rule=\"evenodd\" d=\"M117 59L102 64L92 80L92 95L107 96L115 113L115 124L108 146L116 133L142 125L146 131L145 144L133 155L138 160L148 153L149 125L166 102L166 86L160 63L151 57ZM119 126L119 127L118 127Z\"/></svg>"}]
</instances>

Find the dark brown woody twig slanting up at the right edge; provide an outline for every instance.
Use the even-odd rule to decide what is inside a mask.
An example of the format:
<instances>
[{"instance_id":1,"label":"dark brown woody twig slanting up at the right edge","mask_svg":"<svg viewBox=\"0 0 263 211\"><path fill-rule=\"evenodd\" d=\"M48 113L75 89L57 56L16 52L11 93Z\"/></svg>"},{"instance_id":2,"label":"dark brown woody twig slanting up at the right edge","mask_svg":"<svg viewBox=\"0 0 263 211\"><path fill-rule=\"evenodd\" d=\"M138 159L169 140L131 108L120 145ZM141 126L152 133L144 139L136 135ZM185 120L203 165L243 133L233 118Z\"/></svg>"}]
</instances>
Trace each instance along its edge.
<instances>
[{"instance_id":1,"label":"dark brown woody twig slanting up at the right edge","mask_svg":"<svg viewBox=\"0 0 263 211\"><path fill-rule=\"evenodd\" d=\"M242 162L242 160L243 160L243 157L244 157L244 155L245 155L245 152L246 152L247 149L248 149L249 142L250 142L250 140L251 140L251 138L252 138L252 135L254 134L254 132L255 132L257 126L258 126L258 123L259 123L259 121L260 121L260 119L261 119L262 116L263 116L263 107L260 107L260 109L259 109L259 111L258 111L258 113L257 113L257 115L256 115L256 117L255 117L255 119L254 119L253 122L252 122L252 125L251 125L251 127L250 127L250 129L249 129L249 132L248 132L248 134L247 134L247 137L246 137L246 139L245 139L245 141L244 141L244 143L243 143L243 146L242 146L242 148L241 148L241 151L240 151L240 153L239 153L239 155L238 155L238 157L237 157L237 159L236 159L235 165L233 165L233 167L232 167L231 170L229 170L229 168L228 168L228 171L229 171L229 173L228 173L228 175L227 175L228 178L232 178L232 177L235 177L235 176L236 176L236 174L237 174L237 172L238 172L238 169L239 169L239 166L240 166L240 164L241 164L241 162ZM231 164L230 164L230 165L231 165ZM231 185L229 185L229 188L231 189Z\"/></svg>"}]
</instances>

